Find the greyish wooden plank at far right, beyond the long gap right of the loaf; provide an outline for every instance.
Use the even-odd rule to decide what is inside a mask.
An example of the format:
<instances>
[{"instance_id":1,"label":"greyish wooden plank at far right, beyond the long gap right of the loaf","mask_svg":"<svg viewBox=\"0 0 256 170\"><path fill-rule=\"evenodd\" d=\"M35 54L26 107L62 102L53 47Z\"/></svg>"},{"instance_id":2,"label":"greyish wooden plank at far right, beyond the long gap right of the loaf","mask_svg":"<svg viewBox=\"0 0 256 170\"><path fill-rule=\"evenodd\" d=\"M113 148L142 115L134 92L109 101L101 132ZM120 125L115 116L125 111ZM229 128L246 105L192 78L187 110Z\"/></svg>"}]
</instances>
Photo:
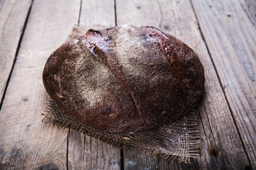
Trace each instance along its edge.
<instances>
[{"instance_id":1,"label":"greyish wooden plank at far right, beyond the long gap right of the loaf","mask_svg":"<svg viewBox=\"0 0 256 170\"><path fill-rule=\"evenodd\" d=\"M255 168L256 29L238 1L192 2L243 146Z\"/></svg>"}]
</instances>

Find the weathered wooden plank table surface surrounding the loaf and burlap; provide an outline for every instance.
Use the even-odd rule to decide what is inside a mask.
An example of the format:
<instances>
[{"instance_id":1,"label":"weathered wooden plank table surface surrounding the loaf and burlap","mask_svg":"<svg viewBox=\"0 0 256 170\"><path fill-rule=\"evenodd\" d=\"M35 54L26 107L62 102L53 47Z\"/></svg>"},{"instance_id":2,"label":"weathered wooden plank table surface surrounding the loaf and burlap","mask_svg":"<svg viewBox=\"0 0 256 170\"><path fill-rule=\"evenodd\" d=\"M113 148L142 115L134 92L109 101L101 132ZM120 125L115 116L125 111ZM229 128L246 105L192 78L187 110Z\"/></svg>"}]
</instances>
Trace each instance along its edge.
<instances>
[{"instance_id":1,"label":"weathered wooden plank table surface surrounding the loaf and burlap","mask_svg":"<svg viewBox=\"0 0 256 170\"><path fill-rule=\"evenodd\" d=\"M255 169L255 0L1 0L0 169ZM151 25L205 68L200 157L166 164L42 122L42 70L74 25Z\"/></svg>"}]
</instances>

